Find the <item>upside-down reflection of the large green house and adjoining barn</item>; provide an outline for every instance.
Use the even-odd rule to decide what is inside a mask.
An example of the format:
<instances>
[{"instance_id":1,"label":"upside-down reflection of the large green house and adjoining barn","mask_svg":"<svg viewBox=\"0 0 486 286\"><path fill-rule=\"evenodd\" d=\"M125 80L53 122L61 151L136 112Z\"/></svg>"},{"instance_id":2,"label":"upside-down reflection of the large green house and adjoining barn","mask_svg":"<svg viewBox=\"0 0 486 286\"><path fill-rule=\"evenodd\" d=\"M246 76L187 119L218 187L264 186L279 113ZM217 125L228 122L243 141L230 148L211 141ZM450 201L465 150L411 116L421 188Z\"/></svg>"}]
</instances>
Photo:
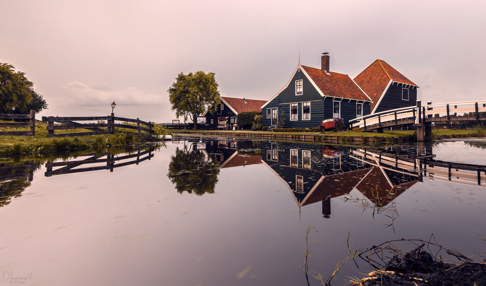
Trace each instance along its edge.
<instances>
[{"instance_id":1,"label":"upside-down reflection of the large green house and adjoining barn","mask_svg":"<svg viewBox=\"0 0 486 286\"><path fill-rule=\"evenodd\" d=\"M262 162L287 185L299 208L322 201L328 218L330 199L354 188L377 206L385 206L417 182L417 176L373 167L350 156L353 152L335 146L270 143Z\"/></svg>"}]
</instances>

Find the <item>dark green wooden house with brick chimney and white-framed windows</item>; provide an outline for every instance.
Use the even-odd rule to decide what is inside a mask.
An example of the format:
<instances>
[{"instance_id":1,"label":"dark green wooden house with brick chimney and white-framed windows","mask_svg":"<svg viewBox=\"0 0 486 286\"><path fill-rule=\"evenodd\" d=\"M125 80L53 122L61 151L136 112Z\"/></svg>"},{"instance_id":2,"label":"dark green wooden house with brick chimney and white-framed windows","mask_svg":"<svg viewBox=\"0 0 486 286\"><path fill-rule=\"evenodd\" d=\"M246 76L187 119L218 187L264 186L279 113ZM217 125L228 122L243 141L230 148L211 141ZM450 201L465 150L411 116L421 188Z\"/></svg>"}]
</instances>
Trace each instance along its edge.
<instances>
[{"instance_id":1,"label":"dark green wooden house with brick chimney and white-framed windows","mask_svg":"<svg viewBox=\"0 0 486 286\"><path fill-rule=\"evenodd\" d=\"M299 64L288 83L261 107L263 125L275 127L274 118L285 118L283 128L315 128L324 119L350 119L370 114L371 99L347 75L329 71L329 55L321 68Z\"/></svg>"}]
</instances>

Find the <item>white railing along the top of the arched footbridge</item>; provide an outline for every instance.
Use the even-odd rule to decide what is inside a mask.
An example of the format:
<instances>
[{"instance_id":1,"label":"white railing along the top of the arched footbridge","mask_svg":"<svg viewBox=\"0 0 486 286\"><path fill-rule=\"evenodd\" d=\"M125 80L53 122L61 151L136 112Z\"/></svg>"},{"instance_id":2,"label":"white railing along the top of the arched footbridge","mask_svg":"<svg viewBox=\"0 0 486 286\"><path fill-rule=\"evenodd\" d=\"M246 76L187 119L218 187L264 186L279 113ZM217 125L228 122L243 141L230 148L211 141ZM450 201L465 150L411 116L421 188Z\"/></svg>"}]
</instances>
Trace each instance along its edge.
<instances>
[{"instance_id":1,"label":"white railing along the top of the arched footbridge","mask_svg":"<svg viewBox=\"0 0 486 286\"><path fill-rule=\"evenodd\" d=\"M422 123L423 118L434 117L435 114L439 114L439 116L445 115L450 120L451 116L453 117L457 113L472 112L476 118L479 118L480 112L486 112L486 101L447 102L423 106L420 103L421 101L417 101L417 106L386 110L351 119L349 120L350 128L364 128L373 124L380 125L381 123L391 121L395 121L398 124L399 120L404 119L414 119L415 123ZM457 120L461 119L458 118Z\"/></svg>"}]
</instances>

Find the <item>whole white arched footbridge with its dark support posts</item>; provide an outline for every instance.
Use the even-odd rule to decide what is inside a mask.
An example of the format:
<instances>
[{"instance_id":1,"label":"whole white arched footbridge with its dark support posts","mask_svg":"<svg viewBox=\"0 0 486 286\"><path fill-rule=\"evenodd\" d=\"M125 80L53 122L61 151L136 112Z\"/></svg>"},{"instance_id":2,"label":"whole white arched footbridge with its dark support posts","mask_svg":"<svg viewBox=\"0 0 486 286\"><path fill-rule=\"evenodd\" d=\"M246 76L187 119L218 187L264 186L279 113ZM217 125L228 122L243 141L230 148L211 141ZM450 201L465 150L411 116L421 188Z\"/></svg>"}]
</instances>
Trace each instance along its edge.
<instances>
[{"instance_id":1,"label":"whole white arched footbridge with its dark support posts","mask_svg":"<svg viewBox=\"0 0 486 286\"><path fill-rule=\"evenodd\" d=\"M458 117L457 113L469 115ZM434 118L436 114L443 117ZM384 128L414 125L417 126L417 140L423 141L424 129L425 138L432 139L432 122L458 120L486 120L486 101L449 102L426 106L421 106L421 101L417 101L417 106L373 113L349 120L349 123L351 129L377 132L383 132Z\"/></svg>"}]
</instances>

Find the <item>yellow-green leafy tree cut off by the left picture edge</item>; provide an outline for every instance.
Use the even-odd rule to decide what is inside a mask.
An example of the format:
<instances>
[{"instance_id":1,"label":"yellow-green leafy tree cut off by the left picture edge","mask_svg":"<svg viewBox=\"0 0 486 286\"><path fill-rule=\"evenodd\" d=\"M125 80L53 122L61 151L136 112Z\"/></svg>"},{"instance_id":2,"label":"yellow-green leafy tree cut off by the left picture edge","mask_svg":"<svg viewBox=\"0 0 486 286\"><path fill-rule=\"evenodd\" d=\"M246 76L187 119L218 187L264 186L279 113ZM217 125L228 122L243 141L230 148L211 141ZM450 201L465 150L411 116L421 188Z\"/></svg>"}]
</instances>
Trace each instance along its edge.
<instances>
[{"instance_id":1,"label":"yellow-green leafy tree cut off by the left picture edge","mask_svg":"<svg viewBox=\"0 0 486 286\"><path fill-rule=\"evenodd\" d=\"M9 113L12 108L25 110L32 101L32 86L25 73L15 67L0 63L0 113Z\"/></svg>"}]
</instances>

